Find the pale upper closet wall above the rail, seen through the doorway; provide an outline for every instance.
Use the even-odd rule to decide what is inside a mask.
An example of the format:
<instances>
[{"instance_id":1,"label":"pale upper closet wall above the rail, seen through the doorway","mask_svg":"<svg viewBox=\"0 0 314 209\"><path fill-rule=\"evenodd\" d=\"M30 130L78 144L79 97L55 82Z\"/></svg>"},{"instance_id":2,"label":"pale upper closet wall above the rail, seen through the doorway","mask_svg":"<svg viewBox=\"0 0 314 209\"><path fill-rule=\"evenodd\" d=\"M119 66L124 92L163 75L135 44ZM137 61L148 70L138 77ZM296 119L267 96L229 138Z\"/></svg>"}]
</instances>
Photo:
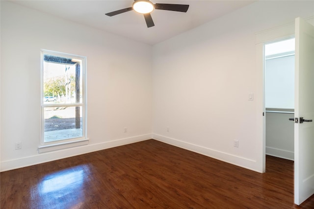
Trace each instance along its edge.
<instances>
[{"instance_id":1,"label":"pale upper closet wall above the rail, seen through the doorway","mask_svg":"<svg viewBox=\"0 0 314 209\"><path fill-rule=\"evenodd\" d=\"M294 38L265 45L265 107L294 108Z\"/></svg>"}]
</instances>

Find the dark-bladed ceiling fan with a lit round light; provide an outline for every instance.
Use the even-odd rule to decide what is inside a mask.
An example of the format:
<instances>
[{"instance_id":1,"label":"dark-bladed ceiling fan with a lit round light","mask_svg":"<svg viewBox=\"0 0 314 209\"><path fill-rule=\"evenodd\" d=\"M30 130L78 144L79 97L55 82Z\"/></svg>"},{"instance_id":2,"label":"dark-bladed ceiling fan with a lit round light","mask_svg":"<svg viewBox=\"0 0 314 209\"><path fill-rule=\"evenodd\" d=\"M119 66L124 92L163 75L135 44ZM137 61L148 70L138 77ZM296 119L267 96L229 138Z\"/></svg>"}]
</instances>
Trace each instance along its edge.
<instances>
[{"instance_id":1,"label":"dark-bladed ceiling fan with a lit round light","mask_svg":"<svg viewBox=\"0 0 314 209\"><path fill-rule=\"evenodd\" d=\"M147 27L155 26L153 18L151 16L151 12L154 9L161 9L161 10L169 10L169 11L176 11L176 12L186 12L188 9L187 4L172 4L172 3L155 3L153 4L149 0L134 0L131 7L120 9L117 11L106 13L107 16L114 16L124 12L128 12L134 10L140 14L144 15Z\"/></svg>"}]
</instances>

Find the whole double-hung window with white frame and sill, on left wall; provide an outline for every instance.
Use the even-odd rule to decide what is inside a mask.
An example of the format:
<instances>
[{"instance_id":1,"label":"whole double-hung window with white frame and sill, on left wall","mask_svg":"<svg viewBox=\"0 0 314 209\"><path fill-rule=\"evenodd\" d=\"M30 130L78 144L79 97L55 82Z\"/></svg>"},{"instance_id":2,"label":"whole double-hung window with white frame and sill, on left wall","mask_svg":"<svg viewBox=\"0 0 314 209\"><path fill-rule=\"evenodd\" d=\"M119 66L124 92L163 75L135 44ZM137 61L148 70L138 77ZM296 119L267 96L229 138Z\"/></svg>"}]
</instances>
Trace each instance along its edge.
<instances>
[{"instance_id":1,"label":"whole double-hung window with white frame and sill, on left wall","mask_svg":"<svg viewBox=\"0 0 314 209\"><path fill-rule=\"evenodd\" d=\"M78 146L82 141L87 144L86 57L43 50L41 63L42 146L39 152Z\"/></svg>"}]
</instances>

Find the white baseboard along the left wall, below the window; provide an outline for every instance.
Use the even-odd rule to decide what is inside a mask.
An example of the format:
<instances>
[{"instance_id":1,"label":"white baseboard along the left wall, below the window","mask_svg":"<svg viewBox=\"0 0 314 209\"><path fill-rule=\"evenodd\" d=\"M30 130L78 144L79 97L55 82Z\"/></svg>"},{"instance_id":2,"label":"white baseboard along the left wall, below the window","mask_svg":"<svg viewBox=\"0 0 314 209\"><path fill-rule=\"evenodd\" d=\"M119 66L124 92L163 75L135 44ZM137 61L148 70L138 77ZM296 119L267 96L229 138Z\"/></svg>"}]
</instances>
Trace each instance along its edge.
<instances>
[{"instance_id":1,"label":"white baseboard along the left wall, below the window","mask_svg":"<svg viewBox=\"0 0 314 209\"><path fill-rule=\"evenodd\" d=\"M17 168L22 168L30 165L36 165L44 162L49 162L57 159L62 159L66 157L73 157L78 155L83 155L86 153L91 153L99 150L105 150L112 147L118 147L126 144L131 144L135 142L145 141L151 139L152 134L145 134L140 136L133 136L130 138L117 139L112 141L106 141L99 144L90 144L84 146L73 147L69 149L63 149L48 153L42 153L34 156L23 157L18 159L12 159L8 161L0 162L0 172L13 170Z\"/></svg>"}]
</instances>

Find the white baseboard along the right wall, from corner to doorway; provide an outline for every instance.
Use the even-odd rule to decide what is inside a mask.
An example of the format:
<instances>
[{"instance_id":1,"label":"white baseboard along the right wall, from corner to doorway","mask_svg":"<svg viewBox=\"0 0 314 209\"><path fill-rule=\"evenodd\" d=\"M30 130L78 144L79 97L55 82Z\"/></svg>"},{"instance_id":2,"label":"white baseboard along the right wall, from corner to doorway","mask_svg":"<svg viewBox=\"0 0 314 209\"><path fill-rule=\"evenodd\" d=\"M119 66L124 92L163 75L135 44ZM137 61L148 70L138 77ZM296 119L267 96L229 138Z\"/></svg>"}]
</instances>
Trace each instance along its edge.
<instances>
[{"instance_id":1,"label":"white baseboard along the right wall, from corner to doorway","mask_svg":"<svg viewBox=\"0 0 314 209\"><path fill-rule=\"evenodd\" d=\"M249 170L262 173L262 171L257 169L258 165L257 165L256 160L231 155L231 154L220 152L217 150L212 150L207 147L202 147L199 145L191 144L191 143L184 142L178 139L169 138L169 137L154 134L154 133L153 133L153 139L176 146L176 147L180 147L185 150L189 150L189 151L192 151L192 152L204 155L204 156L208 156L208 157L212 157L212 158L224 161L224 162L228 162L236 166L240 166Z\"/></svg>"}]
</instances>

